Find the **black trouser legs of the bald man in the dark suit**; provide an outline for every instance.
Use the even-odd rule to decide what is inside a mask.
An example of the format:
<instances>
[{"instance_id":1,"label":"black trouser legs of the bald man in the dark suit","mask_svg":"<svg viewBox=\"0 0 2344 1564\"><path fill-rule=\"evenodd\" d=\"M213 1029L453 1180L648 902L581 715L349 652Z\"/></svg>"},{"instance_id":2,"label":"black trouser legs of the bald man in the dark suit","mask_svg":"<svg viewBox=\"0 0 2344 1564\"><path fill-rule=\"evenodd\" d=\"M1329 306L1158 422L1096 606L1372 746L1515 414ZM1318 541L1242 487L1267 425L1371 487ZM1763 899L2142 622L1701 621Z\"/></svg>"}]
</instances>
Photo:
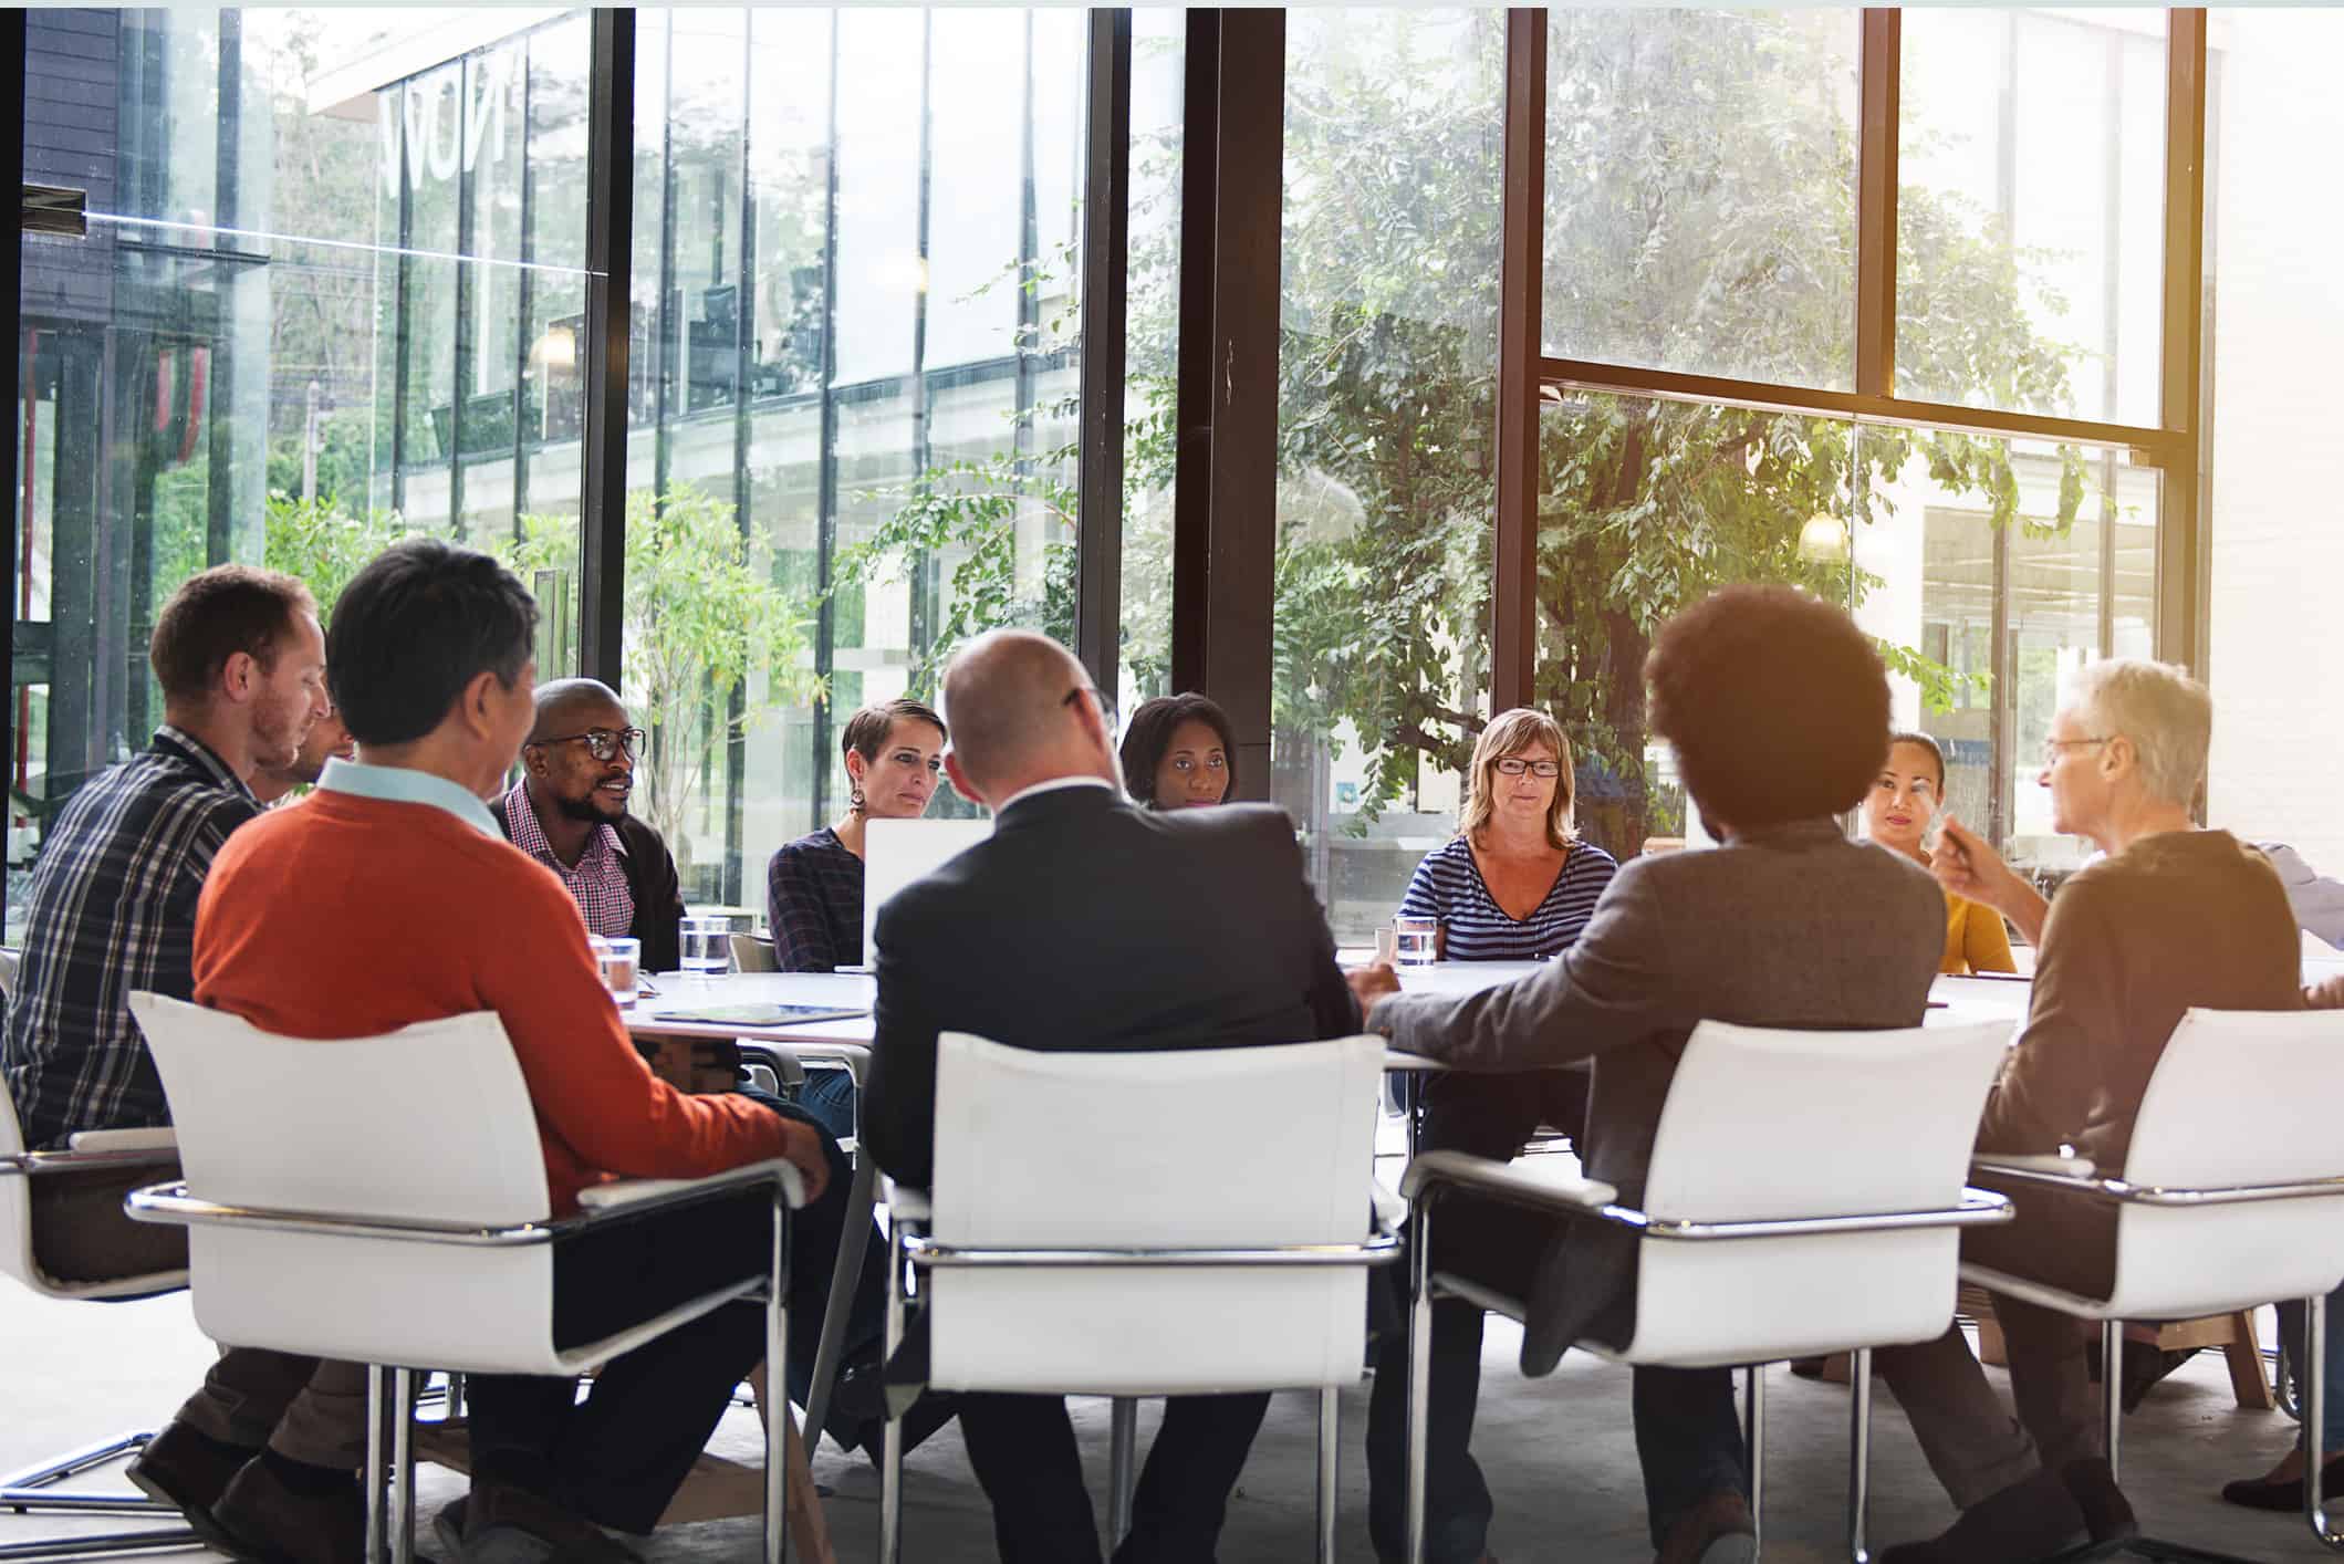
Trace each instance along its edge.
<instances>
[{"instance_id":1,"label":"black trouser legs of the bald man in the dark suit","mask_svg":"<svg viewBox=\"0 0 2344 1564\"><path fill-rule=\"evenodd\" d=\"M1116 1564L1212 1564L1228 1494L1268 1409L1266 1393L1165 1402ZM1099 1522L1062 1398L963 1395L961 1437L994 1505L1001 1564L1099 1564Z\"/></svg>"}]
</instances>

